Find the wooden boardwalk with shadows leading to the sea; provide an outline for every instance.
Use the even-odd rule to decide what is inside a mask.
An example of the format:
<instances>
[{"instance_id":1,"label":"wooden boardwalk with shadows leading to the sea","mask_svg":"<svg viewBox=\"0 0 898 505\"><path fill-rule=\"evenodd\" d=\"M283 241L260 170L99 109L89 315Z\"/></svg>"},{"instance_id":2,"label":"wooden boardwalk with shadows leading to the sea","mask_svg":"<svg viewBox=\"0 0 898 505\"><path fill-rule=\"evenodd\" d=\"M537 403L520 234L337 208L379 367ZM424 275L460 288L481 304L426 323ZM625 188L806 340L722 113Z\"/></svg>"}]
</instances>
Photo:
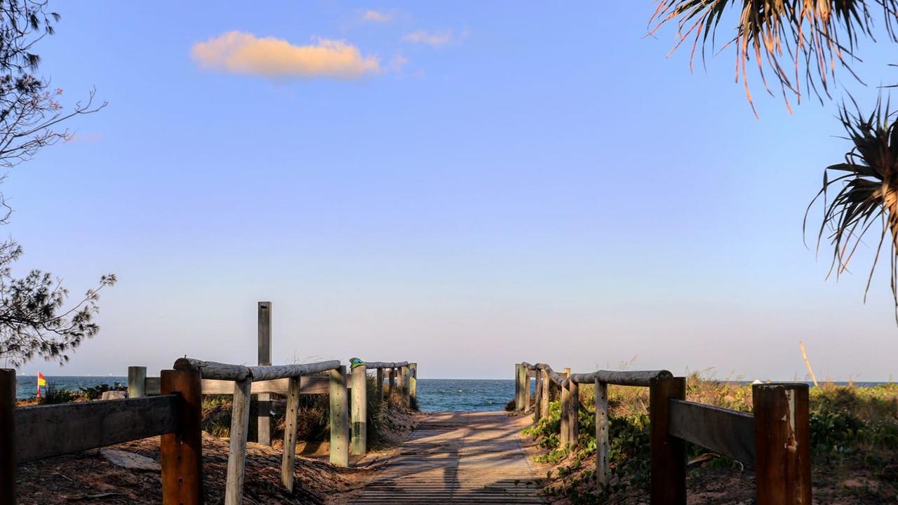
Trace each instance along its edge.
<instances>
[{"instance_id":1,"label":"wooden boardwalk with shadows leading to the sea","mask_svg":"<svg viewBox=\"0 0 898 505\"><path fill-rule=\"evenodd\" d=\"M545 503L521 444L530 416L430 414L349 503Z\"/></svg>"}]
</instances>

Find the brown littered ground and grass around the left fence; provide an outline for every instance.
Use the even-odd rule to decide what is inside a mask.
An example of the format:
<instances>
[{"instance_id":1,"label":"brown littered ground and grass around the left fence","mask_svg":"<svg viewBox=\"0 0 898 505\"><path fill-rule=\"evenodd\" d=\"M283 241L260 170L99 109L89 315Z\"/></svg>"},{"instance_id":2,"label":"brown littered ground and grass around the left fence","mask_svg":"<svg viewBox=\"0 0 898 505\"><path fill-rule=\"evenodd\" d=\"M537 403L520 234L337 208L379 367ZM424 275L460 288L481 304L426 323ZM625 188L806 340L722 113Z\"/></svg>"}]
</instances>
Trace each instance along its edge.
<instances>
[{"instance_id":1,"label":"brown littered ground and grass around the left fence","mask_svg":"<svg viewBox=\"0 0 898 505\"><path fill-rule=\"evenodd\" d=\"M122 389L123 385L99 385L81 391L58 389L48 385L40 403L36 398L19 402L19 406L86 402L104 391ZM347 501L347 493L356 492L371 479L389 458L390 447L408 437L409 430L422 419L422 414L399 404L378 401L374 381L368 384L368 446L370 459L363 465L339 468L328 463L330 440L329 402L325 394L300 396L302 408L298 419L295 462L295 486L287 492L281 484L280 461L283 454L284 411L283 398L274 398L275 430L272 446L249 444L246 456L245 503L283 503L286 505L336 505ZM251 405L251 439L255 439L254 416ZM203 493L207 503L221 503L225 499L225 478L228 461L228 441L231 426L231 396L206 396L203 400ZM145 456L156 464L160 461L157 437L134 440L107 447ZM160 502L162 496L159 470L123 468L112 464L100 450L88 450L67 456L57 456L19 466L18 497L20 503L58 505L59 503L145 504Z\"/></svg>"}]
</instances>

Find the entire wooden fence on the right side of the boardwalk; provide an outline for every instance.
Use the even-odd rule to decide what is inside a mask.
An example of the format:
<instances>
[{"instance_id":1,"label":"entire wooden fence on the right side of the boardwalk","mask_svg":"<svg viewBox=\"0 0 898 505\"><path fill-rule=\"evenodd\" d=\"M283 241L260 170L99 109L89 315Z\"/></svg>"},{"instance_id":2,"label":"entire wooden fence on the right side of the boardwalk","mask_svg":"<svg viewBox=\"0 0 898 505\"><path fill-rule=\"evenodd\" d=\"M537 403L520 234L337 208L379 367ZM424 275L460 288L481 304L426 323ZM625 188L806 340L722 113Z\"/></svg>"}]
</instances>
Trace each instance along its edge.
<instances>
[{"instance_id":1,"label":"entire wooden fence on the right side of the boardwalk","mask_svg":"<svg viewBox=\"0 0 898 505\"><path fill-rule=\"evenodd\" d=\"M550 390L560 390L562 447L577 446L579 385L595 388L595 476L608 485L608 385L648 387L653 505L685 505L685 442L707 447L755 470L758 505L811 503L808 386L794 383L753 385L753 414L686 401L685 377L667 370L558 374L549 365L515 365L515 408L530 407L535 379L534 421L549 415Z\"/></svg>"}]
</instances>

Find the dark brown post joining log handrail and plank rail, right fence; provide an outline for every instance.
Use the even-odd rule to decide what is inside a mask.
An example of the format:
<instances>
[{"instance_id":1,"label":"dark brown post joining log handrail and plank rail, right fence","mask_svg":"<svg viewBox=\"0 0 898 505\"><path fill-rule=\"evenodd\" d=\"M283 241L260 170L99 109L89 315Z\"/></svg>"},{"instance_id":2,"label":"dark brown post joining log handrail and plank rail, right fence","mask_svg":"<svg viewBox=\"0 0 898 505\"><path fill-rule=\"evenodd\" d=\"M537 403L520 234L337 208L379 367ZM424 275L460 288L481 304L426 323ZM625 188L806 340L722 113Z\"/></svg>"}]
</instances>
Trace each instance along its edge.
<instances>
[{"instance_id":1,"label":"dark brown post joining log handrail and plank rail, right fence","mask_svg":"<svg viewBox=\"0 0 898 505\"><path fill-rule=\"evenodd\" d=\"M686 399L684 377L653 378L648 387L651 425L651 504L686 505L686 445L667 434L671 399Z\"/></svg>"}]
</instances>

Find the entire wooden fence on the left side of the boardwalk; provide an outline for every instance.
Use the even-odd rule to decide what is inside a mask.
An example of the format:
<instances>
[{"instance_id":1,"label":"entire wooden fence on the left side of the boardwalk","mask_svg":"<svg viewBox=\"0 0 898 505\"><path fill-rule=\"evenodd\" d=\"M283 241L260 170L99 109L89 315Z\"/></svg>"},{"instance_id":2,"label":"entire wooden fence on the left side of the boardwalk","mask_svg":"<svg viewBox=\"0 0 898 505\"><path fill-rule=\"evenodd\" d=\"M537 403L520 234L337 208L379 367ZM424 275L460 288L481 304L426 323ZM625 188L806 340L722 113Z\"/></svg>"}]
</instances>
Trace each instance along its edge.
<instances>
[{"instance_id":1,"label":"entire wooden fence on the left side of the boardwalk","mask_svg":"<svg viewBox=\"0 0 898 505\"><path fill-rule=\"evenodd\" d=\"M330 461L347 466L350 453L364 455L367 451L368 368L376 370L377 394L383 394L383 371L387 370L388 398L395 391L400 403L414 403L418 366L405 361L360 363L349 374L336 360L244 367L182 358L160 377L146 377L143 367L128 368L130 397L124 400L22 408L15 407L15 371L0 369L0 505L16 502L19 463L159 435L163 504L201 503L203 394L234 396L225 484L228 505L242 502L250 395L286 395L281 477L292 491L299 395L329 394ZM321 373L328 375L315 375Z\"/></svg>"}]
</instances>

